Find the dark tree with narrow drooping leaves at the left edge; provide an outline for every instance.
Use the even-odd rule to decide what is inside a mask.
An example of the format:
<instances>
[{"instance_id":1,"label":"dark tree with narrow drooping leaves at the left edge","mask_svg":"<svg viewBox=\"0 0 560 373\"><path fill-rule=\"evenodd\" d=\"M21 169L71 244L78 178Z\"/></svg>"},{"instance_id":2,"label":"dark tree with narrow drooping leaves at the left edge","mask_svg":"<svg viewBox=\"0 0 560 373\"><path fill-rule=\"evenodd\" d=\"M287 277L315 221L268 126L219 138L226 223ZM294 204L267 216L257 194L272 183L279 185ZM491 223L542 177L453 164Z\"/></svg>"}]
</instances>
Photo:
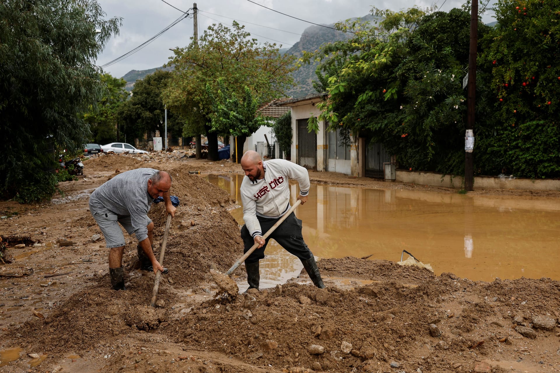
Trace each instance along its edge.
<instances>
[{"instance_id":1,"label":"dark tree with narrow drooping leaves at the left edge","mask_svg":"<svg viewBox=\"0 0 560 373\"><path fill-rule=\"evenodd\" d=\"M83 114L103 90L92 61L120 25L104 16L95 0L0 3L4 196L22 202L50 197L57 186L54 147L76 149L90 136Z\"/></svg>"}]
</instances>

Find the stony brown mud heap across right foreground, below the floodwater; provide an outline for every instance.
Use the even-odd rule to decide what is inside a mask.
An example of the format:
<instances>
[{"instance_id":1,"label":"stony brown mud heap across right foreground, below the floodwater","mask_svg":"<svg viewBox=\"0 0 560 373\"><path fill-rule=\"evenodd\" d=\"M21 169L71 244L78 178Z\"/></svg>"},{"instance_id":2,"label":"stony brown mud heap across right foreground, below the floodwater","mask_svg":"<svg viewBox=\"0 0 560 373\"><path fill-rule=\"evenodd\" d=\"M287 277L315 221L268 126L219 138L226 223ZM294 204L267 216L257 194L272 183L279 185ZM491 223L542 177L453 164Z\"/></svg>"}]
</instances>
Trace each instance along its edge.
<instances>
[{"instance_id":1,"label":"stony brown mud heap across right foreground, below the floodwater","mask_svg":"<svg viewBox=\"0 0 560 373\"><path fill-rule=\"evenodd\" d=\"M488 365L484 359L558 361L560 282L488 284L421 270L425 280L410 286L398 273L412 268L360 260L342 262L393 279L352 290L286 284L251 290L234 304L207 301L170 324L180 331L176 342L283 371L469 372Z\"/></svg>"}]
</instances>

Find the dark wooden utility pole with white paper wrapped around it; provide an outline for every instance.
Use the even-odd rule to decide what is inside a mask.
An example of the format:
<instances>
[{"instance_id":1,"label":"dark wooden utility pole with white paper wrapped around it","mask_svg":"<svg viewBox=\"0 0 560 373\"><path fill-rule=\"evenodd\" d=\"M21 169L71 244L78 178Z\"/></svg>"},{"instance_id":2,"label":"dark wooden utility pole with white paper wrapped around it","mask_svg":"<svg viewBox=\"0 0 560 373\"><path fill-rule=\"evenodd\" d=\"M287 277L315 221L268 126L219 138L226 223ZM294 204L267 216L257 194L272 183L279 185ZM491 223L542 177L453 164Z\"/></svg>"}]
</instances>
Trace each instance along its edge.
<instances>
[{"instance_id":1,"label":"dark wooden utility pole with white paper wrapped around it","mask_svg":"<svg viewBox=\"0 0 560 373\"><path fill-rule=\"evenodd\" d=\"M466 96L466 132L465 132L465 190L473 190L474 181L474 105L477 89L477 29L478 0L472 0L470 6L470 44L469 44L469 79Z\"/></svg>"}]
</instances>

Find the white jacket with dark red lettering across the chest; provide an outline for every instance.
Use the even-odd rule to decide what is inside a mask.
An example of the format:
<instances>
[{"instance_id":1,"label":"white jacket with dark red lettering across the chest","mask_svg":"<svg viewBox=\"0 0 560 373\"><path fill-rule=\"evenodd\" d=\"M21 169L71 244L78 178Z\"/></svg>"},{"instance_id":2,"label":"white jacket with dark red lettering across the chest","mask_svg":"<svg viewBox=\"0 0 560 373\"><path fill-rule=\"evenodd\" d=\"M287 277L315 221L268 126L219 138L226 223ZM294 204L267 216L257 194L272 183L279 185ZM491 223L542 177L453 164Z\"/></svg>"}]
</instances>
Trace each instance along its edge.
<instances>
[{"instance_id":1,"label":"white jacket with dark red lettering across the chest","mask_svg":"<svg viewBox=\"0 0 560 373\"><path fill-rule=\"evenodd\" d=\"M279 218L290 210L290 184L288 178L300 185L300 196L309 193L307 169L286 159L270 159L263 162L264 179L251 181L244 177L241 183L243 220L251 236L262 236L257 215L263 218Z\"/></svg>"}]
</instances>

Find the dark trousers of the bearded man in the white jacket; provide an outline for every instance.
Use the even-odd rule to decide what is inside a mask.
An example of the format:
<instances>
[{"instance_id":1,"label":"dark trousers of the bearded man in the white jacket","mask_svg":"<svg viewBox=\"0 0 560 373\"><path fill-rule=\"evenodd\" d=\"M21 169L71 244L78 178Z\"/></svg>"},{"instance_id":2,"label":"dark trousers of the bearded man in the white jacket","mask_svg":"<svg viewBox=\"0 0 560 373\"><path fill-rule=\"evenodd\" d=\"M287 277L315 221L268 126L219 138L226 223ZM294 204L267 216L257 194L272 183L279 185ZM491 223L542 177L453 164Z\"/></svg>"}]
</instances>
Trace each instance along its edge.
<instances>
[{"instance_id":1,"label":"dark trousers of the bearded man in the white jacket","mask_svg":"<svg viewBox=\"0 0 560 373\"><path fill-rule=\"evenodd\" d=\"M276 224L278 219L280 219L267 219L262 218L261 216L257 216L256 218L259 219L260 229L263 234L268 232L268 230ZM249 230L245 225L241 228L241 238L243 239L243 243L245 245L243 252L246 253L251 247L253 247L255 240L251 237ZM301 235L301 220L296 218L296 214L291 213L288 215L286 220L284 220L282 224L280 224L278 228L269 235L269 237L265 240L263 247L255 249L255 251L251 253L247 259L245 259L245 263L256 263L259 259L264 258L264 249L267 247L268 241L271 238L274 238L274 240L286 249L286 251L300 258L302 261L306 261L313 256L311 250L305 244L304 237Z\"/></svg>"}]
</instances>

